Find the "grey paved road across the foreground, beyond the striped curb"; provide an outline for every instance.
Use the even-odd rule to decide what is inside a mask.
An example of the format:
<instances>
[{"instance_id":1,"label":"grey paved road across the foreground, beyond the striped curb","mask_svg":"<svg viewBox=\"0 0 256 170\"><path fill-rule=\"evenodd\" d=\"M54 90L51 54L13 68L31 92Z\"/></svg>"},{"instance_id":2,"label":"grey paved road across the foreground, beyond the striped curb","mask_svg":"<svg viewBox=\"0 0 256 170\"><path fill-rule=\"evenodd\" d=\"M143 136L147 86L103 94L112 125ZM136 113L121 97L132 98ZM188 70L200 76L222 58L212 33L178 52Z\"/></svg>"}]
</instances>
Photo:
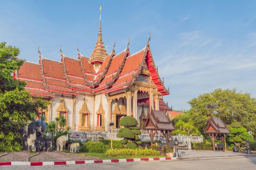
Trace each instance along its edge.
<instances>
[{"instance_id":1,"label":"grey paved road across the foreground, beyond the striped curb","mask_svg":"<svg viewBox=\"0 0 256 170\"><path fill-rule=\"evenodd\" d=\"M0 166L0 170L256 170L256 157L94 163L62 166Z\"/></svg>"}]
</instances>

